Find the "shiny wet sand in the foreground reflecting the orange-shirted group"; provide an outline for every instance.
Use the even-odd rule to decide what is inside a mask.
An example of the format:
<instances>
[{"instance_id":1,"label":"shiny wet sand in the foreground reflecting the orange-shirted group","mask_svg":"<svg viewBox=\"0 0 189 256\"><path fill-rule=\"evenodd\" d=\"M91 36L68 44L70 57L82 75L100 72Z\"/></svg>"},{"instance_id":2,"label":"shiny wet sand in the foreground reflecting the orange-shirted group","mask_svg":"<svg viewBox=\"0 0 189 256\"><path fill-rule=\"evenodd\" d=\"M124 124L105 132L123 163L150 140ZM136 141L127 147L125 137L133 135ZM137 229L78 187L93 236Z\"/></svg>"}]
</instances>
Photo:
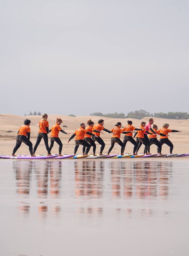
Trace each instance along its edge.
<instances>
[{"instance_id":1,"label":"shiny wet sand in the foreground reflecting the orange-shirted group","mask_svg":"<svg viewBox=\"0 0 189 256\"><path fill-rule=\"evenodd\" d=\"M0 159L3 256L189 255L186 159Z\"/></svg>"}]
</instances>

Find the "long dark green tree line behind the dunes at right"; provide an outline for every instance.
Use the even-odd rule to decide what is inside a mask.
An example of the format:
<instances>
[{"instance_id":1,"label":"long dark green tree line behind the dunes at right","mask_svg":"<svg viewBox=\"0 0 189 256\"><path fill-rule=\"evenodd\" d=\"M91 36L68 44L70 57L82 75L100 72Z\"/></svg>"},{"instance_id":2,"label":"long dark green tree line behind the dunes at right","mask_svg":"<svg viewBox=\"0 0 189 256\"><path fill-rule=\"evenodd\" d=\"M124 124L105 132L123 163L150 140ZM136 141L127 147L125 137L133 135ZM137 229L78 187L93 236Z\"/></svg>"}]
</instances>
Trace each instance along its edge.
<instances>
[{"instance_id":1,"label":"long dark green tree line behind the dunes at right","mask_svg":"<svg viewBox=\"0 0 189 256\"><path fill-rule=\"evenodd\" d=\"M103 114L101 112L96 112L90 114L91 116L104 116L104 117L112 117L112 118L134 118L134 119L142 119L147 116L159 117L165 119L189 119L189 114L187 112L168 112L168 113L149 113L146 110L135 110L131 111L127 115L124 113L118 114L117 112L111 114Z\"/></svg>"}]
</instances>

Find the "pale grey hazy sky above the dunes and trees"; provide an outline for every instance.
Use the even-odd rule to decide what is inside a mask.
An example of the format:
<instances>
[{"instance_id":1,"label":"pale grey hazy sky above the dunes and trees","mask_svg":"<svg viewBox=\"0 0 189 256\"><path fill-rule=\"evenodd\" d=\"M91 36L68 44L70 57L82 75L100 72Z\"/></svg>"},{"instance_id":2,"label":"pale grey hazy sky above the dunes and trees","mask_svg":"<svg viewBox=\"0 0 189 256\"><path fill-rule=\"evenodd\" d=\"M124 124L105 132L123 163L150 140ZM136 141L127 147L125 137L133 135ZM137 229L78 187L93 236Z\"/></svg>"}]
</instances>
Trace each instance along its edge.
<instances>
[{"instance_id":1,"label":"pale grey hazy sky above the dunes and trees","mask_svg":"<svg viewBox=\"0 0 189 256\"><path fill-rule=\"evenodd\" d=\"M188 0L0 2L0 114L189 113Z\"/></svg>"}]
</instances>

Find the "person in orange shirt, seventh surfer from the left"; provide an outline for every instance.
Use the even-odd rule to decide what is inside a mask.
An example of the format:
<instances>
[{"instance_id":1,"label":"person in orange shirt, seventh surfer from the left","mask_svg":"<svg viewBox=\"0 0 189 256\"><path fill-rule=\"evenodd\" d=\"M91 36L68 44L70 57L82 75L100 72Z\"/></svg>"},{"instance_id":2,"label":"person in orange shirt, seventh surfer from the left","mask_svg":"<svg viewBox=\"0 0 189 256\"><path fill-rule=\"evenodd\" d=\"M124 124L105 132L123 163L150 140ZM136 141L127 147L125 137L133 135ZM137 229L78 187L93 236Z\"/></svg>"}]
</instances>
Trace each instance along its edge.
<instances>
[{"instance_id":1,"label":"person in orange shirt, seventh surfer from the left","mask_svg":"<svg viewBox=\"0 0 189 256\"><path fill-rule=\"evenodd\" d=\"M121 136L121 133L126 134L126 133L130 133L130 131L129 132L124 132L121 129L121 123L120 122L117 122L117 124L115 124L115 126L116 127L111 129L111 132L113 132L113 136L111 138L111 147L109 148L108 155L110 155L110 152L112 151L115 143L118 143L121 146L121 155L123 155L125 146L124 146L124 143L120 140L120 136Z\"/></svg>"}]
</instances>

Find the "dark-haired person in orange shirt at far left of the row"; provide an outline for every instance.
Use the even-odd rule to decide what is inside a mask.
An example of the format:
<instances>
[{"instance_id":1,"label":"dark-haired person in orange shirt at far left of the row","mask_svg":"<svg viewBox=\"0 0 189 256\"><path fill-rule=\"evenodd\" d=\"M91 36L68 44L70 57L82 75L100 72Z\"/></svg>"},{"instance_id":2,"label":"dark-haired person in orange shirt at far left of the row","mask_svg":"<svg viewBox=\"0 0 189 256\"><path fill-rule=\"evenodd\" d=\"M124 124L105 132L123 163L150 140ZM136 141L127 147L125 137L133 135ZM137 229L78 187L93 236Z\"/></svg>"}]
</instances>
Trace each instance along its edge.
<instances>
[{"instance_id":1,"label":"dark-haired person in orange shirt at far left of the row","mask_svg":"<svg viewBox=\"0 0 189 256\"><path fill-rule=\"evenodd\" d=\"M29 140L30 139L30 127L29 127L30 123L31 123L31 121L29 119L26 119L24 121L24 125L20 127L20 129L18 131L18 135L16 137L16 146L13 149L12 156L16 156L15 153L21 146L22 142L25 143L29 147L29 152L30 152L31 156L35 156L33 154L32 143Z\"/></svg>"}]
</instances>

